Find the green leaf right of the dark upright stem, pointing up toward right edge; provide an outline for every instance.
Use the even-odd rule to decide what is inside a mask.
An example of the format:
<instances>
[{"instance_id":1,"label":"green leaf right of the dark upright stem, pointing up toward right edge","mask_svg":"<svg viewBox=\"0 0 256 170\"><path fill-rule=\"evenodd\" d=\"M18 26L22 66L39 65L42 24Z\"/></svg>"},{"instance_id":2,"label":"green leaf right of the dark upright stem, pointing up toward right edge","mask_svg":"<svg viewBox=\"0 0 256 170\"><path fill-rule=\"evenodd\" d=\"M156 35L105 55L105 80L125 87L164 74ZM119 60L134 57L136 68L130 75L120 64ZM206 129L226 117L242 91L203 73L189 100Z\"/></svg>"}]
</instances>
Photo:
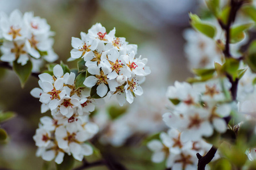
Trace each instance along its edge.
<instances>
[{"instance_id":1,"label":"green leaf right of the dark upright stem, pointing up toward right edge","mask_svg":"<svg viewBox=\"0 0 256 170\"><path fill-rule=\"evenodd\" d=\"M230 29L230 43L237 43L245 38L245 32L247 29L253 27L254 23L238 25Z\"/></svg>"}]
</instances>

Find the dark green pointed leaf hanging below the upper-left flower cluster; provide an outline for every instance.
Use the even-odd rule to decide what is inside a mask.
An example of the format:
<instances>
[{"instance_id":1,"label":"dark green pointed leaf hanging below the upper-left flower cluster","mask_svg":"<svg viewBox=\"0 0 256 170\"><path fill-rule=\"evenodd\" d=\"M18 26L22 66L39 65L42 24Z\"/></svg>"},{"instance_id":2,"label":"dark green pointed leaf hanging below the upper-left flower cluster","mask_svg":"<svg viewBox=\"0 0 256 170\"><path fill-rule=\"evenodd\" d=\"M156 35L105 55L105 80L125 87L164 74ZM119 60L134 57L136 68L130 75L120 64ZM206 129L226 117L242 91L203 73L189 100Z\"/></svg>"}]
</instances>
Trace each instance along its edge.
<instances>
[{"instance_id":1,"label":"dark green pointed leaf hanging below the upper-left flower cluster","mask_svg":"<svg viewBox=\"0 0 256 170\"><path fill-rule=\"evenodd\" d=\"M17 61L14 61L13 70L19 76L20 84L23 88L31 74L32 62L28 60L26 65L22 66L20 63L17 63Z\"/></svg>"}]
</instances>

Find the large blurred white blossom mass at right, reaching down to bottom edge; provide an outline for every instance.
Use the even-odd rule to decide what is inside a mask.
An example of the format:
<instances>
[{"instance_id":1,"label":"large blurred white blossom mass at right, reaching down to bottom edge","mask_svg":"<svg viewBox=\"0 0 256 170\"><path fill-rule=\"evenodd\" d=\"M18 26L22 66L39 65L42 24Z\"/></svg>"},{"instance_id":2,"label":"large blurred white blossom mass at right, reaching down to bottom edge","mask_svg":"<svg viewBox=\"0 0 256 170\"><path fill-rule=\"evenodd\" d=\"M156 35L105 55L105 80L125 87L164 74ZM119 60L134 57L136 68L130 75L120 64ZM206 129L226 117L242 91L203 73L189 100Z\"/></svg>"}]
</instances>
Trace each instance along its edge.
<instances>
[{"instance_id":1,"label":"large blurred white blossom mass at right, reaching down to bottom edge","mask_svg":"<svg viewBox=\"0 0 256 170\"><path fill-rule=\"evenodd\" d=\"M160 141L148 143L153 162L162 162L167 158L167 168L195 169L196 152L209 150L210 145L203 137L210 137L214 130L225 133L225 117L232 111L232 103L226 103L225 90L230 88L228 79L212 79L207 82L189 84L175 82L168 88L167 97L172 102L171 113L163 115L163 121L171 128L160 134ZM205 143L195 147L195 144ZM201 148L201 146L203 148ZM196 148L196 149L195 149ZM157 156L158 155L158 156Z\"/></svg>"}]
</instances>

